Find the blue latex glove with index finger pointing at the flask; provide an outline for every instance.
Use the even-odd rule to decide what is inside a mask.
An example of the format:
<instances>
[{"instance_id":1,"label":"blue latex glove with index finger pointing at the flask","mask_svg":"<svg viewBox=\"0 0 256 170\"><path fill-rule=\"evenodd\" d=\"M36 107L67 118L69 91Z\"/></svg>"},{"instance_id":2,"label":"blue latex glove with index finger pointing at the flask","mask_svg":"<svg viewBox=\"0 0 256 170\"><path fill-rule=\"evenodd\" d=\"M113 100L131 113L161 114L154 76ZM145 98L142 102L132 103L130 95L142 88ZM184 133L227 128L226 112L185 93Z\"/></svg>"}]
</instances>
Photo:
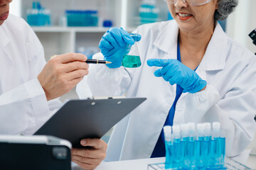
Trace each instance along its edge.
<instances>
[{"instance_id":1,"label":"blue latex glove with index finger pointing at the flask","mask_svg":"<svg viewBox=\"0 0 256 170\"><path fill-rule=\"evenodd\" d=\"M184 89L183 93L189 92L194 94L201 91L207 84L193 69L186 67L186 65L178 60L150 59L147 60L147 64L150 67L162 67L161 69L157 69L154 75L156 77L163 77L164 80L169 81L171 85L180 85Z\"/></svg>"}]
</instances>

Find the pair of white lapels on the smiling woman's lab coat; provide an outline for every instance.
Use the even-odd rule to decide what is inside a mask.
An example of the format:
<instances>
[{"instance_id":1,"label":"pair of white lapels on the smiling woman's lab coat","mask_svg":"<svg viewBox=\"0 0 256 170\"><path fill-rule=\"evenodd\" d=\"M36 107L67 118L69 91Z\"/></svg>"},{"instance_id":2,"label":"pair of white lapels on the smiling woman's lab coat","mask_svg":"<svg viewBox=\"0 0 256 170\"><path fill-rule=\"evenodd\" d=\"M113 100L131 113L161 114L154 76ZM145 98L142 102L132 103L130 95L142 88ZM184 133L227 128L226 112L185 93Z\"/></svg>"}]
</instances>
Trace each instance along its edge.
<instances>
[{"instance_id":1,"label":"pair of white lapels on the smiling woman's lab coat","mask_svg":"<svg viewBox=\"0 0 256 170\"><path fill-rule=\"evenodd\" d=\"M165 28L154 41L154 45L166 53L171 58L176 59L177 56L177 38L178 38L178 25L176 21L169 21ZM206 49L198 69L205 71L220 70L225 67L225 60L228 47L228 36L225 35L220 24L217 23L212 38Z\"/></svg>"}]
</instances>

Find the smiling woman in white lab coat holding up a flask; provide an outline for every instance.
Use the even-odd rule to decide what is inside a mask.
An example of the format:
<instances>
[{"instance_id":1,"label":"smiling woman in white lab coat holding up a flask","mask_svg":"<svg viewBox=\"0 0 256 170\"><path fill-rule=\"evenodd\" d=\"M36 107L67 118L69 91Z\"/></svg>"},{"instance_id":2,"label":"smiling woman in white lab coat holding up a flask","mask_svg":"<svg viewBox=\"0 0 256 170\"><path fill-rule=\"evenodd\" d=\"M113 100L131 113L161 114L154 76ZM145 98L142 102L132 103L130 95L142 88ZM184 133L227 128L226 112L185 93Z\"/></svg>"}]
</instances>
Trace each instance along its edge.
<instances>
[{"instance_id":1,"label":"smiling woman in white lab coat holding up a flask","mask_svg":"<svg viewBox=\"0 0 256 170\"><path fill-rule=\"evenodd\" d=\"M114 128L106 161L164 157L164 125L218 121L228 157L241 154L253 139L256 57L217 22L238 1L167 0L167 5L174 21L134 31L142 36L141 67L121 67L127 44L134 40L122 28L110 28L100 42L102 53L94 58L112 64L93 65L87 80L78 84L80 97L89 86L93 96L147 98Z\"/></svg>"}]
</instances>

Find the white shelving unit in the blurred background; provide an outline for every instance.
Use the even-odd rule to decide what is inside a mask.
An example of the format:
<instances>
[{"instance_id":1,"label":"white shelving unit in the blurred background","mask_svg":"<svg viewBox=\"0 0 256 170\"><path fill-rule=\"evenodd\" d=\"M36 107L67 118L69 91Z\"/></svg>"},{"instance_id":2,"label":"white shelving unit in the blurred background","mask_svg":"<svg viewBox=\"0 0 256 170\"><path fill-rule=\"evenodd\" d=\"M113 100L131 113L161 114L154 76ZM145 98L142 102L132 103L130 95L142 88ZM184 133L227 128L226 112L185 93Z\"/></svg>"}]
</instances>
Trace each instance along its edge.
<instances>
[{"instance_id":1,"label":"white shelving unit in the blurred background","mask_svg":"<svg viewBox=\"0 0 256 170\"><path fill-rule=\"evenodd\" d=\"M32 7L33 0L21 1L21 17L26 20L26 11ZM161 20L166 20L168 8L166 2L156 0L160 8ZM113 27L122 27L132 32L138 25L139 6L142 0L43 0L41 4L51 11L50 27L33 27L45 49L46 60L50 56L77 52L80 47L98 46L102 35L109 29L102 27L104 19L111 19ZM67 9L95 9L99 11L98 27L61 27L59 20ZM99 49L98 49L99 50Z\"/></svg>"}]
</instances>

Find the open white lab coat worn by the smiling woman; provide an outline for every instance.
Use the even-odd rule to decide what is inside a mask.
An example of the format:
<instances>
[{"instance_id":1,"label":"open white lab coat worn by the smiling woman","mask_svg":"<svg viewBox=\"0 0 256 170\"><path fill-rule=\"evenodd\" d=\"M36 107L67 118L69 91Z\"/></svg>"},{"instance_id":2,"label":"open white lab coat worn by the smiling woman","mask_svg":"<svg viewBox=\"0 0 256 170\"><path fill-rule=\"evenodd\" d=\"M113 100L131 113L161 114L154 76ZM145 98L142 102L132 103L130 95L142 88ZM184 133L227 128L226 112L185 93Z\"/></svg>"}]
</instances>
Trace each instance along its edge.
<instances>
[{"instance_id":1,"label":"open white lab coat worn by the smiling woman","mask_svg":"<svg viewBox=\"0 0 256 170\"><path fill-rule=\"evenodd\" d=\"M77 87L80 96L88 85L94 96L126 94L147 98L114 128L106 161L151 157L176 96L176 85L154 77L159 67L149 67L146 60L177 58L178 25L175 21L153 23L139 26L135 32L142 35L141 67L110 69L102 64L90 65L87 80ZM226 154L234 157L247 147L255 132L256 57L228 38L218 24L196 72L207 81L206 90L181 94L174 125L219 121L225 129Z\"/></svg>"}]
</instances>

